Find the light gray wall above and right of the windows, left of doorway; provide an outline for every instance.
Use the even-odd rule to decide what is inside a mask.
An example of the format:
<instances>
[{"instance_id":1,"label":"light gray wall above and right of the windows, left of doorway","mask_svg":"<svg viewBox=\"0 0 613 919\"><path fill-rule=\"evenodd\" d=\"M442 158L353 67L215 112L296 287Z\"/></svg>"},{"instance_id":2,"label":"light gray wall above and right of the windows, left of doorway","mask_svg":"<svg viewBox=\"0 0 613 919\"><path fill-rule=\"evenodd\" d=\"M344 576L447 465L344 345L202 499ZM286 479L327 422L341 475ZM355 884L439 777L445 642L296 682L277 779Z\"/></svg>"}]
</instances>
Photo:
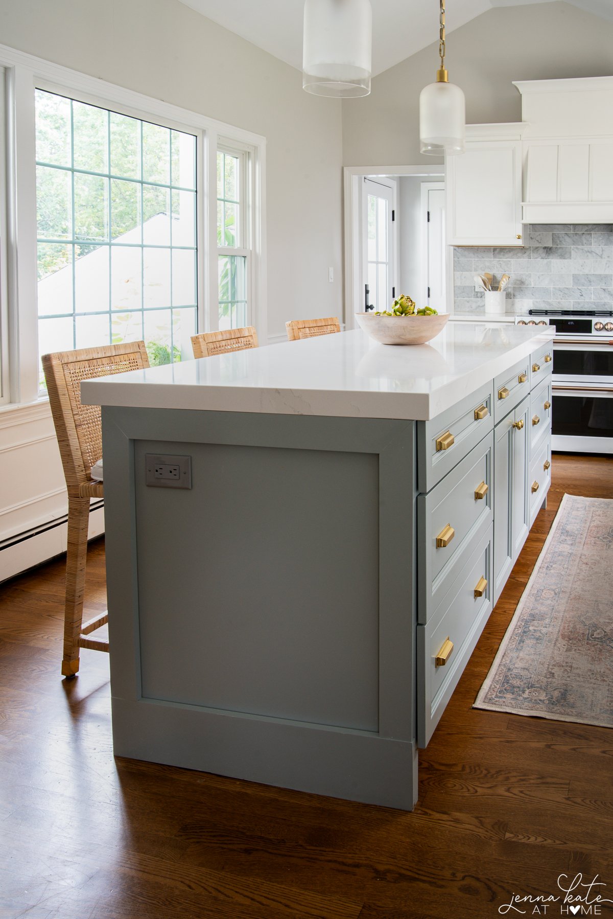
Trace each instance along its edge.
<instances>
[{"instance_id":1,"label":"light gray wall above and right of the windows, left of doorway","mask_svg":"<svg viewBox=\"0 0 613 919\"><path fill-rule=\"evenodd\" d=\"M178 0L0 0L0 40L265 135L269 335L342 314L340 101Z\"/></svg>"}]
</instances>

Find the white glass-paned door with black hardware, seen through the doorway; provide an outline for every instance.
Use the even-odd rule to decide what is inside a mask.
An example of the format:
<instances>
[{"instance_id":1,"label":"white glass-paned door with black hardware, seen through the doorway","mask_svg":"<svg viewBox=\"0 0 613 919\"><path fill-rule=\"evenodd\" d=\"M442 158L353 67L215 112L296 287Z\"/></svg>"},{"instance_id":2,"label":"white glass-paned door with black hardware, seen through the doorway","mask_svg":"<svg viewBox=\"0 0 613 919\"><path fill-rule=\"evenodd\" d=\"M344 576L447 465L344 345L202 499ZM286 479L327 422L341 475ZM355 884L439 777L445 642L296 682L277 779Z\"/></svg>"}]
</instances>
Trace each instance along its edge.
<instances>
[{"instance_id":1,"label":"white glass-paned door with black hardware, seen through the doorway","mask_svg":"<svg viewBox=\"0 0 613 919\"><path fill-rule=\"evenodd\" d=\"M363 307L388 310L395 294L394 234L395 183L365 178L362 197ZM368 288L368 300L367 300Z\"/></svg>"}]
</instances>

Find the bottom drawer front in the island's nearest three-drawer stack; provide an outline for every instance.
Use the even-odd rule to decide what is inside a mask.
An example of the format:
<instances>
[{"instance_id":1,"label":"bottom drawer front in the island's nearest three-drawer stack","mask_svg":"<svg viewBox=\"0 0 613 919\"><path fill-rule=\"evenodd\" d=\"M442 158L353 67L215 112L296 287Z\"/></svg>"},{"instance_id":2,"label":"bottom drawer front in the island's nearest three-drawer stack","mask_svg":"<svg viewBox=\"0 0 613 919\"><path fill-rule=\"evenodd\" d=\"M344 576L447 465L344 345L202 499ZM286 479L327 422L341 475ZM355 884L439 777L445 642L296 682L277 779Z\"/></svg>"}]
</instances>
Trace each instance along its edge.
<instances>
[{"instance_id":1,"label":"bottom drawer front in the island's nearest three-drawer stack","mask_svg":"<svg viewBox=\"0 0 613 919\"><path fill-rule=\"evenodd\" d=\"M484 584L483 582L487 582ZM492 527L443 598L441 615L417 626L417 741L424 747L492 612ZM449 652L449 644L453 649ZM446 663L441 661L441 655Z\"/></svg>"}]
</instances>

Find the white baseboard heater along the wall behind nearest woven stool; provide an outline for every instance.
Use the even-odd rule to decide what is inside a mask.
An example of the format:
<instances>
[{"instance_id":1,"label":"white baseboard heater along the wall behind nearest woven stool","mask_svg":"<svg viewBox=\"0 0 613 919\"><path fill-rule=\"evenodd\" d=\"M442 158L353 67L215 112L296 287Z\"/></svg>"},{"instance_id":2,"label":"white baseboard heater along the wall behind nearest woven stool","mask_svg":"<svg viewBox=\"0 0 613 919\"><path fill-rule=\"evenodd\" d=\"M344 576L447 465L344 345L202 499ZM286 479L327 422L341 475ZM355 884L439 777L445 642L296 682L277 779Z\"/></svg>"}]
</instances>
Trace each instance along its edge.
<instances>
[{"instance_id":1,"label":"white baseboard heater along the wall behind nearest woven stool","mask_svg":"<svg viewBox=\"0 0 613 919\"><path fill-rule=\"evenodd\" d=\"M89 512L88 539L94 539L104 533L104 505L94 505ZM0 582L9 577L28 571L42 562L49 562L66 551L66 518L54 521L47 528L37 532L26 533L16 539L6 541L0 547Z\"/></svg>"}]
</instances>

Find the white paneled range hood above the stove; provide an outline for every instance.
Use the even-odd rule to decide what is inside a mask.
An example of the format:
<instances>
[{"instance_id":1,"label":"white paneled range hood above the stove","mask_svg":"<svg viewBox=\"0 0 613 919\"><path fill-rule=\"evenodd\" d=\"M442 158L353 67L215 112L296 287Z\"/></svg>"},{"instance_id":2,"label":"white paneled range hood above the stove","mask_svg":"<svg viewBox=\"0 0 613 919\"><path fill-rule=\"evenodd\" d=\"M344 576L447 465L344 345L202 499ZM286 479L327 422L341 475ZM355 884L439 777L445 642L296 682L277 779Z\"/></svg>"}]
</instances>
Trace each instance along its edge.
<instances>
[{"instance_id":1,"label":"white paneled range hood above the stove","mask_svg":"<svg viewBox=\"0 0 613 919\"><path fill-rule=\"evenodd\" d=\"M515 83L524 223L613 222L613 76Z\"/></svg>"}]
</instances>

